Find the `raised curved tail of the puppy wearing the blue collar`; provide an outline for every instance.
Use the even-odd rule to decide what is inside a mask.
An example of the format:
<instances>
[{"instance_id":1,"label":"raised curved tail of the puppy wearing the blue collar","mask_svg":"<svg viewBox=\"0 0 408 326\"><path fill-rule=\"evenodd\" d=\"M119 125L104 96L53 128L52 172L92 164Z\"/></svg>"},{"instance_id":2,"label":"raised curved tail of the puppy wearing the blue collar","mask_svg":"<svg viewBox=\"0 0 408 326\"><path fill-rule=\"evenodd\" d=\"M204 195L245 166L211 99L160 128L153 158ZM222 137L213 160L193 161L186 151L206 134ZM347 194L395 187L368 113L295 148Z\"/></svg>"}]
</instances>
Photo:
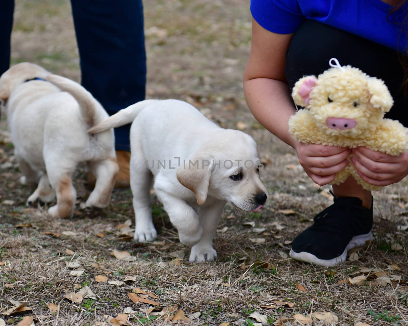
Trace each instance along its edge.
<instances>
[{"instance_id":1,"label":"raised curved tail of the puppy wearing the blue collar","mask_svg":"<svg viewBox=\"0 0 408 326\"><path fill-rule=\"evenodd\" d=\"M77 82L58 75L48 75L47 80L73 96L80 106L82 118L88 126L93 126L103 119L104 109L102 105ZM105 113L106 115L106 113Z\"/></svg>"}]
</instances>

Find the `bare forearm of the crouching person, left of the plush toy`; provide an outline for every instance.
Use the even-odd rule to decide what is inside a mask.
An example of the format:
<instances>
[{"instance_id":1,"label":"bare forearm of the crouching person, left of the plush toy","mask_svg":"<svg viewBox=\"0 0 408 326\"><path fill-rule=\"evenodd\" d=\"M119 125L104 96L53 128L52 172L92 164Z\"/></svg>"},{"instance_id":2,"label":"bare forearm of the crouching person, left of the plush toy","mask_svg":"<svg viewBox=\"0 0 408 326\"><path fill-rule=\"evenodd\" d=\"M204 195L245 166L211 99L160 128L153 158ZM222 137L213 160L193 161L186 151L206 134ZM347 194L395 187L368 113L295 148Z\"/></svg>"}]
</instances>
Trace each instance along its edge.
<instances>
[{"instance_id":1,"label":"bare forearm of the crouching person, left of the plush toy","mask_svg":"<svg viewBox=\"0 0 408 326\"><path fill-rule=\"evenodd\" d=\"M295 114L290 89L283 81L255 78L244 81L246 102L255 119L288 145L295 147L288 120Z\"/></svg>"}]
</instances>

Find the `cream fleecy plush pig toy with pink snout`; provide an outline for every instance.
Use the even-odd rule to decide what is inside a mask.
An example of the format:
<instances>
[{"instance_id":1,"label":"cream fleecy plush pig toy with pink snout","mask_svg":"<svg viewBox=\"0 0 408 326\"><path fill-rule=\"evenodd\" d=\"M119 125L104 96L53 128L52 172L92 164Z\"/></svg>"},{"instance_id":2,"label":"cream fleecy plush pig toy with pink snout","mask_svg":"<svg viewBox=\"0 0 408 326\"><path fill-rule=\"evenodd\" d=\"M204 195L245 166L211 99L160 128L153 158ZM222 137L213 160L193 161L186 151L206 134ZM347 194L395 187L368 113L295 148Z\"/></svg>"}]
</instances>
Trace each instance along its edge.
<instances>
[{"instance_id":1,"label":"cream fleecy plush pig toy with pink snout","mask_svg":"<svg viewBox=\"0 0 408 326\"><path fill-rule=\"evenodd\" d=\"M304 109L289 119L292 137L306 144L365 146L390 155L408 150L408 129L399 121L384 119L393 104L384 82L357 68L340 66L335 58L329 64L332 68L317 78L306 76L296 82L292 97ZM364 181L351 161L331 184L343 183L350 175L364 189L381 189Z\"/></svg>"}]
</instances>

